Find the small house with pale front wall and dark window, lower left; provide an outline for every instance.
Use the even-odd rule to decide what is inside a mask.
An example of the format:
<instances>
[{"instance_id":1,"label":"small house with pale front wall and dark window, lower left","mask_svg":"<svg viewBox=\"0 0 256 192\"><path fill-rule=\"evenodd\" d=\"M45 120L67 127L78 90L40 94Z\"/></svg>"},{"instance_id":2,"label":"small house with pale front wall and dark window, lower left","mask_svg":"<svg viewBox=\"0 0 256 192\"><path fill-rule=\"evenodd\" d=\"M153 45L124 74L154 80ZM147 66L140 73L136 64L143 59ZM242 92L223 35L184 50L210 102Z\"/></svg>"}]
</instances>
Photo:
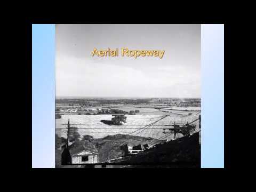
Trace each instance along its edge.
<instances>
[{"instance_id":1,"label":"small house with pale front wall and dark window, lower left","mask_svg":"<svg viewBox=\"0 0 256 192\"><path fill-rule=\"evenodd\" d=\"M90 141L75 142L69 151L72 164L98 163L98 150Z\"/></svg>"}]
</instances>

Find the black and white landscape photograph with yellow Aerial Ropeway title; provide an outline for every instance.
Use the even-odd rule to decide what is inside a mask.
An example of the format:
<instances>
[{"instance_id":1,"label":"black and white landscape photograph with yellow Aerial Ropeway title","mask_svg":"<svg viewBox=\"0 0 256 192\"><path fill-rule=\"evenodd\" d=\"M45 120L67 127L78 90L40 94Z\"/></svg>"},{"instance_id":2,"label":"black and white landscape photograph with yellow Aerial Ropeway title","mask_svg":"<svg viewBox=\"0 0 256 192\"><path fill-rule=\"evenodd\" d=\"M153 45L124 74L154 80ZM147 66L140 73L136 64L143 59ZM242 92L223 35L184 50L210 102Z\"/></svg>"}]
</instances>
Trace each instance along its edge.
<instances>
[{"instance_id":1,"label":"black and white landscape photograph with yellow Aerial Ropeway title","mask_svg":"<svg viewBox=\"0 0 256 192\"><path fill-rule=\"evenodd\" d=\"M55 167L201 167L201 25L55 25Z\"/></svg>"}]
</instances>

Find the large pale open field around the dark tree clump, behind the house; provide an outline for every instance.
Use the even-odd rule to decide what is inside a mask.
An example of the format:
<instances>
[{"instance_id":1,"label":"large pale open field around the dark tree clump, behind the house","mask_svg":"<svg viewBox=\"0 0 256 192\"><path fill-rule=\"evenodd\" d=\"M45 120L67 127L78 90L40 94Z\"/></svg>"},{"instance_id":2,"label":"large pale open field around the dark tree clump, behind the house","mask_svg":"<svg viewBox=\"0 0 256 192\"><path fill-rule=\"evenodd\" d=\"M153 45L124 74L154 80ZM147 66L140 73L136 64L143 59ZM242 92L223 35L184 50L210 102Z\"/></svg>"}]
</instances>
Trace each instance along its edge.
<instances>
[{"instance_id":1,"label":"large pale open field around the dark tree clump, behind the house","mask_svg":"<svg viewBox=\"0 0 256 192\"><path fill-rule=\"evenodd\" d=\"M59 137L62 135L62 137L66 137L66 131L67 129L62 129L60 131L60 128L66 128L68 119L70 119L70 126L71 127L78 127L78 132L81 135L92 135L94 138L102 138L106 137L107 135L115 135L118 133L121 134L129 134L133 131L132 135L138 135L140 137L151 137L151 138L159 138L164 136L163 128L168 128L172 126L163 126L163 125L170 125L174 121L185 121L185 122L191 122L198 118L198 111L176 111L173 113L165 113L165 115L170 115L161 121L157 122L154 125L159 126L150 126L147 130L143 130L141 133L141 130L136 131L139 128L145 127L146 125L153 123L161 118L162 115L127 115L127 123L125 125L106 125L101 122L101 120L107 120L110 121L112 116L111 115L62 115L61 119L55 119L56 124L56 133L59 135ZM188 115L191 113L191 115ZM73 125L74 124L74 125ZM83 125L82 125L83 124ZM194 124L196 124L196 130L198 129L199 121L196 121ZM86 129L82 129L86 128ZM157 129L153 129L157 128ZM138 134L137 134L138 133ZM181 136L181 135L180 135ZM169 139L172 139L172 135L170 135Z\"/></svg>"}]
</instances>

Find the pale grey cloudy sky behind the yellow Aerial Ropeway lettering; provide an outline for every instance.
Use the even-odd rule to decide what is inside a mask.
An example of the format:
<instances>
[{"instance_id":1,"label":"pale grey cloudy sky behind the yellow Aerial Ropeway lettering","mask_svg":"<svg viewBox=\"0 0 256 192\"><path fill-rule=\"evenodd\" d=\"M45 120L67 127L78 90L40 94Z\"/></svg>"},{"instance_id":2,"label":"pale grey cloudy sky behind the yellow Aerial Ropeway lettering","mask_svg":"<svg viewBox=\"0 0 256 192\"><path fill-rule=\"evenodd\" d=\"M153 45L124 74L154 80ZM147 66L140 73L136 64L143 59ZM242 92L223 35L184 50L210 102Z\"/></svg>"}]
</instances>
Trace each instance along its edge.
<instances>
[{"instance_id":1,"label":"pale grey cloudy sky behind the yellow Aerial Ropeway lettering","mask_svg":"<svg viewBox=\"0 0 256 192\"><path fill-rule=\"evenodd\" d=\"M92 57L94 47L119 57ZM55 25L55 49L56 97L201 98L201 25Z\"/></svg>"}]
</instances>

